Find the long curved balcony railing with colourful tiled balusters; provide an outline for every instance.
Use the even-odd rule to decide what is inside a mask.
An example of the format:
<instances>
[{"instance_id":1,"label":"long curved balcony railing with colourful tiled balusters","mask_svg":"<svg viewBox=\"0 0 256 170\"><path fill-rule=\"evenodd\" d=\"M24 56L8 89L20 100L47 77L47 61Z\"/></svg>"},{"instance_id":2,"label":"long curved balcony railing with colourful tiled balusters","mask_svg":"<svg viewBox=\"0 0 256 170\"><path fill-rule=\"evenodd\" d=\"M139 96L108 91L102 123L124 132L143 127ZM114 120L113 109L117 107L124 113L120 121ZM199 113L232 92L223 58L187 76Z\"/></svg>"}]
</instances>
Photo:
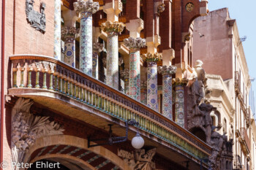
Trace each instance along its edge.
<instances>
[{"instance_id":1,"label":"long curved balcony railing with colourful tiled balusters","mask_svg":"<svg viewBox=\"0 0 256 170\"><path fill-rule=\"evenodd\" d=\"M39 55L12 55L10 60L12 88L51 90L118 120L134 118L140 123L138 128L194 158L211 155L211 147L172 120L66 63Z\"/></svg>"}]
</instances>

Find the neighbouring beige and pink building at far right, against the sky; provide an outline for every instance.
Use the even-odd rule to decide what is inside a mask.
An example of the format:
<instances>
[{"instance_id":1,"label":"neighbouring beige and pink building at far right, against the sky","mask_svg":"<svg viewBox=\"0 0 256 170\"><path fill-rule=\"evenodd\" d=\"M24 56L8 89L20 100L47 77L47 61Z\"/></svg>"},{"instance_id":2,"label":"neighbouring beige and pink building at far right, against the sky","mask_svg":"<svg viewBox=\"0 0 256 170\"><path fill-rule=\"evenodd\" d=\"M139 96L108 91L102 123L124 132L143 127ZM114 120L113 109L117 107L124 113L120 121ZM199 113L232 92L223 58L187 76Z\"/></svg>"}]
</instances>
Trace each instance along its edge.
<instances>
[{"instance_id":1,"label":"neighbouring beige and pink building at far right, against the sky","mask_svg":"<svg viewBox=\"0 0 256 170\"><path fill-rule=\"evenodd\" d=\"M214 106L214 125L233 139L233 167L255 169L255 119L249 106L251 80L236 20L227 8L212 11L194 22L193 62L202 60L207 74L206 98Z\"/></svg>"}]
</instances>

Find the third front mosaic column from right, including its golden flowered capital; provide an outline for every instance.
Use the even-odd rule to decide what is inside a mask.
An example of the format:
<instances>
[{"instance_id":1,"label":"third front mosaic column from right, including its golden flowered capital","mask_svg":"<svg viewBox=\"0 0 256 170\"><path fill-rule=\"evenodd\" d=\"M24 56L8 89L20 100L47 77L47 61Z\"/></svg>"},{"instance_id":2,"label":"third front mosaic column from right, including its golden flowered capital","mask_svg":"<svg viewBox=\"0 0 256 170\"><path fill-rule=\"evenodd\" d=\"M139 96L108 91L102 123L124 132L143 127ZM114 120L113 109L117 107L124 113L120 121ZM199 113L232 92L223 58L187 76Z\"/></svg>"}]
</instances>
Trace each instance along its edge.
<instances>
[{"instance_id":1,"label":"third front mosaic column from right, including its golden flowered capital","mask_svg":"<svg viewBox=\"0 0 256 170\"><path fill-rule=\"evenodd\" d=\"M152 55L146 54L146 61L148 64L147 71L147 105L155 111L158 110L158 97L157 97L157 62L162 58L158 53Z\"/></svg>"}]
</instances>

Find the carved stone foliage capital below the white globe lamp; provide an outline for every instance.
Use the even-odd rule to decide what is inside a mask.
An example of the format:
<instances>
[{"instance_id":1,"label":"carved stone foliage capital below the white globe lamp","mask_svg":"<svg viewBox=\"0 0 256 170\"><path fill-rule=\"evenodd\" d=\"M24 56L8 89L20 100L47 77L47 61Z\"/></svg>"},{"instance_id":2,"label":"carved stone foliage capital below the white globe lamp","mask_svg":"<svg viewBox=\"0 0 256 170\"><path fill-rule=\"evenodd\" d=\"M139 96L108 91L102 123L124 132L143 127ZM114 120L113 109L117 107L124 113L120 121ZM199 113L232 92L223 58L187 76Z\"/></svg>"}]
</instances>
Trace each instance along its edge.
<instances>
[{"instance_id":1,"label":"carved stone foliage capital below the white globe lamp","mask_svg":"<svg viewBox=\"0 0 256 170\"><path fill-rule=\"evenodd\" d=\"M155 163L152 162L156 148L152 150L136 150L135 152L127 152L125 150L118 150L118 156L123 158L124 162L134 170L153 170L156 169Z\"/></svg>"}]
</instances>

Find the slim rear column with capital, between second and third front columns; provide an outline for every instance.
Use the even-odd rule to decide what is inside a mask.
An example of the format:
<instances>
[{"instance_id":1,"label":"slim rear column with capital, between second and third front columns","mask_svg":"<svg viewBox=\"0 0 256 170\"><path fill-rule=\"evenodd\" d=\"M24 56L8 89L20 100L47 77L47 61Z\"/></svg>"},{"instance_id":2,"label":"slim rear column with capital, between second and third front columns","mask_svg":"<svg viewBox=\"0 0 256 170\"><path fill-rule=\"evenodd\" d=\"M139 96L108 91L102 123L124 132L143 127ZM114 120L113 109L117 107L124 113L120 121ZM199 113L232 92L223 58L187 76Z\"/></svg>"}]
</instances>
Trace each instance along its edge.
<instances>
[{"instance_id":1,"label":"slim rear column with capital, between second and third front columns","mask_svg":"<svg viewBox=\"0 0 256 170\"><path fill-rule=\"evenodd\" d=\"M102 43L94 43L94 53L92 53L92 77L99 79L99 53L102 52L104 45Z\"/></svg>"}]
</instances>

